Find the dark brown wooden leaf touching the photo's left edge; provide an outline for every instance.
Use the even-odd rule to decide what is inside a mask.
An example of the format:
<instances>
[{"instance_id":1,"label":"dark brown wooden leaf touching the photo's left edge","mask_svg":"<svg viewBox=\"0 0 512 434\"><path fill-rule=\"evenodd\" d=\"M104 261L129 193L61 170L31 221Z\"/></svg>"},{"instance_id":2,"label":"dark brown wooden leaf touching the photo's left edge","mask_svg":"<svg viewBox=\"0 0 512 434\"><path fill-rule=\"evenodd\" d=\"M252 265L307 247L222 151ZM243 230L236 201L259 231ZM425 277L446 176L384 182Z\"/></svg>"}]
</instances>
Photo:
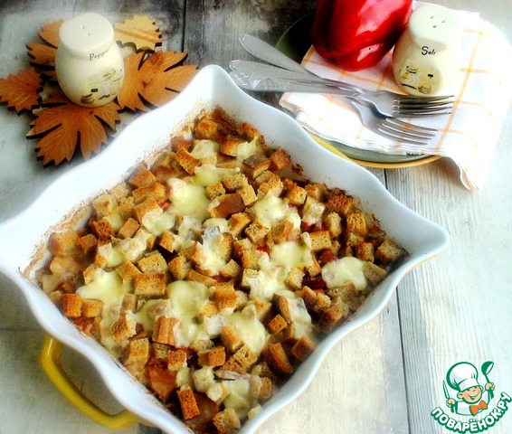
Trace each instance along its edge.
<instances>
[{"instance_id":1,"label":"dark brown wooden leaf touching the photo's left edge","mask_svg":"<svg viewBox=\"0 0 512 434\"><path fill-rule=\"evenodd\" d=\"M0 101L9 109L20 114L32 110L39 104L39 91L43 89L43 79L39 72L33 70L18 71L7 79L0 79Z\"/></svg>"}]
</instances>

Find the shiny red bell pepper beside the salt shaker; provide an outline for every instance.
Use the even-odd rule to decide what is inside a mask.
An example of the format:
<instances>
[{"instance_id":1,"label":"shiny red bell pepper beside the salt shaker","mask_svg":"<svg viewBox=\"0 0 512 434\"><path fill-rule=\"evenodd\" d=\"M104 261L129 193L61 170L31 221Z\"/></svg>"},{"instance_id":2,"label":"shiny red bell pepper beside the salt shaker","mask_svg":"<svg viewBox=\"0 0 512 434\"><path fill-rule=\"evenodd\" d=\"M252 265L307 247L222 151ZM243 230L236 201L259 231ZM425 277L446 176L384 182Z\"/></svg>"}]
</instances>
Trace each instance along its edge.
<instances>
[{"instance_id":1,"label":"shiny red bell pepper beside the salt shaker","mask_svg":"<svg viewBox=\"0 0 512 434\"><path fill-rule=\"evenodd\" d=\"M346 71L374 66L407 26L412 0L318 0L311 41Z\"/></svg>"}]
</instances>

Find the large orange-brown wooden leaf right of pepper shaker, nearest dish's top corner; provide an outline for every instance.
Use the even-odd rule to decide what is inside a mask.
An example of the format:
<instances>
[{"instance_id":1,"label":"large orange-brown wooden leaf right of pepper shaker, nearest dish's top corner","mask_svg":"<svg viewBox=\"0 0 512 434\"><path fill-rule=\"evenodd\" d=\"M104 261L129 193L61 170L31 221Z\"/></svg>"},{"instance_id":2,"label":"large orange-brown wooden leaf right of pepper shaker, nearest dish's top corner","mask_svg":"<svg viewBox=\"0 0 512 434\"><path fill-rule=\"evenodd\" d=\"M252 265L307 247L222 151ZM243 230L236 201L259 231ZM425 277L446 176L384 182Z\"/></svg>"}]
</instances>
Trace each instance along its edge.
<instances>
[{"instance_id":1,"label":"large orange-brown wooden leaf right of pepper shaker, nearest dish's top corner","mask_svg":"<svg viewBox=\"0 0 512 434\"><path fill-rule=\"evenodd\" d=\"M196 65L180 65L186 52L130 54L125 59L125 81L118 95L121 109L147 110L146 102L159 107L185 89L197 72Z\"/></svg>"}]
</instances>

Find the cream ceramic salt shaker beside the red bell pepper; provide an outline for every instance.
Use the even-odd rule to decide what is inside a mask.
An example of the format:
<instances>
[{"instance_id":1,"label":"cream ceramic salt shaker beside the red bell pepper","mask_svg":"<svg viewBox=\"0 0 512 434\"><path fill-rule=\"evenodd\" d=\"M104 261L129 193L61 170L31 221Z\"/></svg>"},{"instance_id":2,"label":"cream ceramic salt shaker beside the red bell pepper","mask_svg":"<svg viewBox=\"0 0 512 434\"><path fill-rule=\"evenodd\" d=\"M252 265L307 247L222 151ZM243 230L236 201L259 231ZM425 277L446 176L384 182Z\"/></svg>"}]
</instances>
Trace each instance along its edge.
<instances>
[{"instance_id":1,"label":"cream ceramic salt shaker beside the red bell pepper","mask_svg":"<svg viewBox=\"0 0 512 434\"><path fill-rule=\"evenodd\" d=\"M450 93L460 71L462 25L455 11L422 5L414 12L393 51L393 75L412 95Z\"/></svg>"}]
</instances>

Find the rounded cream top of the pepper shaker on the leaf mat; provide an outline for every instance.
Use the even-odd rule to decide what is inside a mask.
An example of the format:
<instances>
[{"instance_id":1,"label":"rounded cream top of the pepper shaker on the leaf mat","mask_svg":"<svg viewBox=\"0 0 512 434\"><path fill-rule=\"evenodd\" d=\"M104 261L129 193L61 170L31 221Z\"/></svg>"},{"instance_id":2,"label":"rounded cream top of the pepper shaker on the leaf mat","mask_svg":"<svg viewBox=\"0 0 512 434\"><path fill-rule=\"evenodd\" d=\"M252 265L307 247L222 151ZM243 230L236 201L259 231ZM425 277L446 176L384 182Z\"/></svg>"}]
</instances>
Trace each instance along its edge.
<instances>
[{"instance_id":1,"label":"rounded cream top of the pepper shaker on the leaf mat","mask_svg":"<svg viewBox=\"0 0 512 434\"><path fill-rule=\"evenodd\" d=\"M88 12L62 23L59 39L75 56L89 58L91 53L100 55L109 49L114 39L114 29L105 17Z\"/></svg>"}]
</instances>

